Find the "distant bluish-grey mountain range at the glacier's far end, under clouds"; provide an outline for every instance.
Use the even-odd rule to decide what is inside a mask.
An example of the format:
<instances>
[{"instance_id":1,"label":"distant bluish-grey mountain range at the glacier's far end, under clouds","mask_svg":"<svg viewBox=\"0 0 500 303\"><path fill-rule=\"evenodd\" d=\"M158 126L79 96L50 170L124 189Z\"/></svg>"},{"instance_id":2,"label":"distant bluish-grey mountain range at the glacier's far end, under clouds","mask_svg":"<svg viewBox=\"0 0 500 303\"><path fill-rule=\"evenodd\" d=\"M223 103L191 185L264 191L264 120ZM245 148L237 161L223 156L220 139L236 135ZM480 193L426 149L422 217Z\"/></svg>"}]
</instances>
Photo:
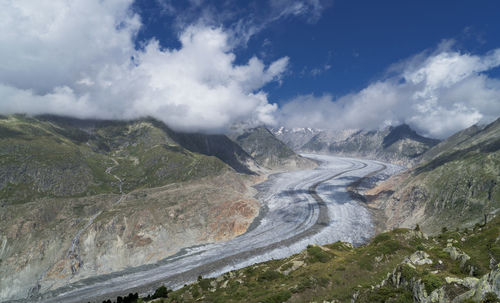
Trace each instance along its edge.
<instances>
[{"instance_id":1,"label":"distant bluish-grey mountain range at the glacier's far end, under clouds","mask_svg":"<svg viewBox=\"0 0 500 303\"><path fill-rule=\"evenodd\" d=\"M406 124L374 131L310 131L308 134L314 135L302 145L299 144L304 141L300 132L277 129L274 133L299 151L371 158L405 166L416 163L419 156L439 143L418 135ZM295 141L294 134L298 137Z\"/></svg>"}]
</instances>

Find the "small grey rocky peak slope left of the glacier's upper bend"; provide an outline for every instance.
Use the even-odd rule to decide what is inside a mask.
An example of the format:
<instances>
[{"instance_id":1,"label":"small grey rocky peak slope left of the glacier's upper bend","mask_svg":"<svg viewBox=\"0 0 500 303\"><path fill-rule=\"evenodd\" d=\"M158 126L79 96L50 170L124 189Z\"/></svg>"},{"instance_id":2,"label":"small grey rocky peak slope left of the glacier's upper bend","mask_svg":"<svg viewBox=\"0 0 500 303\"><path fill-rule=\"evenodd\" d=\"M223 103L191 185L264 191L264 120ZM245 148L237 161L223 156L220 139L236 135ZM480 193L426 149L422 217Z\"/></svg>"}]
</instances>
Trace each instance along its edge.
<instances>
[{"instance_id":1,"label":"small grey rocky peak slope left of the glacier's upper bend","mask_svg":"<svg viewBox=\"0 0 500 303\"><path fill-rule=\"evenodd\" d=\"M261 166L270 169L311 168L315 166L311 160L297 155L265 127L245 129L240 133L233 133L231 137Z\"/></svg>"}]
</instances>

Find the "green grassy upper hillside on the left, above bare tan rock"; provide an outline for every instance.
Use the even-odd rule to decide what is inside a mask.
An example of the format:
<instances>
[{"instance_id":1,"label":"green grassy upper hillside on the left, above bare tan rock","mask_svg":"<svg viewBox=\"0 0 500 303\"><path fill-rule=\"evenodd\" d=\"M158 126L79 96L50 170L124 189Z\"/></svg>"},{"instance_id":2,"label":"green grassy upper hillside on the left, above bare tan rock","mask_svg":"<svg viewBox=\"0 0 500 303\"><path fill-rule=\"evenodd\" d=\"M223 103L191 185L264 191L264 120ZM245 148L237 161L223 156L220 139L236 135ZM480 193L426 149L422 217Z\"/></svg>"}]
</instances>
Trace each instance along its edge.
<instances>
[{"instance_id":1,"label":"green grassy upper hillside on the left, above bare tan rock","mask_svg":"<svg viewBox=\"0 0 500 303\"><path fill-rule=\"evenodd\" d=\"M0 119L0 201L78 197L220 174L216 157L190 152L148 120ZM108 172L107 172L108 170ZM116 177L114 177L115 175Z\"/></svg>"}]
</instances>

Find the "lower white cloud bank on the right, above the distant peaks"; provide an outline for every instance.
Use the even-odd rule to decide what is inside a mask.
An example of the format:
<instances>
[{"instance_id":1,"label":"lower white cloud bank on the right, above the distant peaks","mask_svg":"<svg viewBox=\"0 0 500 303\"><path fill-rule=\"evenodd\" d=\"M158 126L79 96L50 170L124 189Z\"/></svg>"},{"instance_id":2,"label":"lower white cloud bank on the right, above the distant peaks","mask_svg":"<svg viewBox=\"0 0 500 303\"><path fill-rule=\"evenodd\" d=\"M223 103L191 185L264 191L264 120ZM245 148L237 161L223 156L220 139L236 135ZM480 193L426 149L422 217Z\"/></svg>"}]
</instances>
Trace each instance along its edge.
<instances>
[{"instance_id":1,"label":"lower white cloud bank on the right, above the distant peaks","mask_svg":"<svg viewBox=\"0 0 500 303\"><path fill-rule=\"evenodd\" d=\"M445 138L500 116L500 81L485 73L500 65L500 49L484 55L442 44L390 68L393 76L360 92L299 96L280 110L290 127L377 129L408 123L420 133Z\"/></svg>"}]
</instances>

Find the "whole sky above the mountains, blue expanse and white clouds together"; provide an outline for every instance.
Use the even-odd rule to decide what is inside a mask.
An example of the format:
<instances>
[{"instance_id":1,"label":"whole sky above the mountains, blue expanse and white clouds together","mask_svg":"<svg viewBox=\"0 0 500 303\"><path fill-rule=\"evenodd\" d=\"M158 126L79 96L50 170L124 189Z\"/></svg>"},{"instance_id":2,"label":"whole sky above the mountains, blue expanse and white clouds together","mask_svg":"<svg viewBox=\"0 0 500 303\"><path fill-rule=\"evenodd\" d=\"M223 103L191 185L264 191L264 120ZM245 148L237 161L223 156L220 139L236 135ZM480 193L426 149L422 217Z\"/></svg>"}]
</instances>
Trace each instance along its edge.
<instances>
[{"instance_id":1,"label":"whole sky above the mountains, blue expanse and white clouds together","mask_svg":"<svg viewBox=\"0 0 500 303\"><path fill-rule=\"evenodd\" d=\"M0 113L445 138L500 116L500 2L0 0Z\"/></svg>"}]
</instances>

